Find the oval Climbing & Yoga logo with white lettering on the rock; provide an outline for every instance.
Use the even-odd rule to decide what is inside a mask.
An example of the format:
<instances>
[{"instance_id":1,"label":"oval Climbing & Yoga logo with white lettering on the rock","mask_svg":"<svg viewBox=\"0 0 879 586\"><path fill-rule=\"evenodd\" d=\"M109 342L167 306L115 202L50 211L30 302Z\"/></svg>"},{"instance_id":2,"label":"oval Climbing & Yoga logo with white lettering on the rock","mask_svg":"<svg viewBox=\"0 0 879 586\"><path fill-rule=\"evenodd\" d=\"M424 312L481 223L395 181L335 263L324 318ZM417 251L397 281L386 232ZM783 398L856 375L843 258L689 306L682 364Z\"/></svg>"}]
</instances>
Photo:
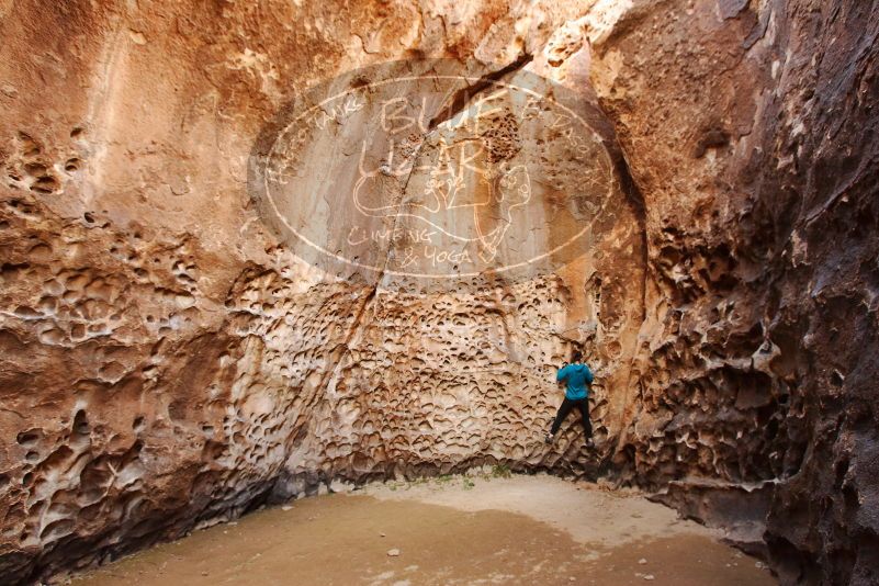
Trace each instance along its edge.
<instances>
[{"instance_id":1,"label":"oval Climbing & Yoga logo with white lettering on the rock","mask_svg":"<svg viewBox=\"0 0 879 586\"><path fill-rule=\"evenodd\" d=\"M570 93L447 61L346 74L263 128L249 189L295 253L340 275L551 272L588 247L615 189Z\"/></svg>"}]
</instances>

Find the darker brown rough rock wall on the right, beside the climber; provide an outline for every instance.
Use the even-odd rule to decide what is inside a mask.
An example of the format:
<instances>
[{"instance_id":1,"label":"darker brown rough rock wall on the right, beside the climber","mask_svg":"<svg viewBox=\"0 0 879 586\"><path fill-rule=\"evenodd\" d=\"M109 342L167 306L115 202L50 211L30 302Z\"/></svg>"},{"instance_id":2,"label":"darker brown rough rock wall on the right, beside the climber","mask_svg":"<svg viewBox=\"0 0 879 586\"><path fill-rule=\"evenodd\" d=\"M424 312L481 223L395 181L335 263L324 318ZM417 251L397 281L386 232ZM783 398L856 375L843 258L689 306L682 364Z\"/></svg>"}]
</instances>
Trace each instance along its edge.
<instances>
[{"instance_id":1,"label":"darker brown rough rock wall on the right, beside the climber","mask_svg":"<svg viewBox=\"0 0 879 586\"><path fill-rule=\"evenodd\" d=\"M619 464L703 518L768 512L784 583L872 584L879 7L662 5L593 70L647 211Z\"/></svg>"}]
</instances>

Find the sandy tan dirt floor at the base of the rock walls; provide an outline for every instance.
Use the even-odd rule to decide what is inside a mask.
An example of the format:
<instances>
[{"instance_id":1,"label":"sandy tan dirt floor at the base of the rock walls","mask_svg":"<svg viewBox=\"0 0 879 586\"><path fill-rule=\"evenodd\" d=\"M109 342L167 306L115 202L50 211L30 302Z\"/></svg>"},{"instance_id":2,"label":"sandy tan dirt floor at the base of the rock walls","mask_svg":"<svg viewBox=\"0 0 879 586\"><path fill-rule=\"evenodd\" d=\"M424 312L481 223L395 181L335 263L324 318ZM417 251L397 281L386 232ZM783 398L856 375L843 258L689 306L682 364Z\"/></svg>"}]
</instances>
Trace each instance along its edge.
<instances>
[{"instance_id":1,"label":"sandy tan dirt floor at the base of the rock walls","mask_svg":"<svg viewBox=\"0 0 879 586\"><path fill-rule=\"evenodd\" d=\"M104 585L769 585L763 564L634 493L491 473L304 498L74 581Z\"/></svg>"}]
</instances>

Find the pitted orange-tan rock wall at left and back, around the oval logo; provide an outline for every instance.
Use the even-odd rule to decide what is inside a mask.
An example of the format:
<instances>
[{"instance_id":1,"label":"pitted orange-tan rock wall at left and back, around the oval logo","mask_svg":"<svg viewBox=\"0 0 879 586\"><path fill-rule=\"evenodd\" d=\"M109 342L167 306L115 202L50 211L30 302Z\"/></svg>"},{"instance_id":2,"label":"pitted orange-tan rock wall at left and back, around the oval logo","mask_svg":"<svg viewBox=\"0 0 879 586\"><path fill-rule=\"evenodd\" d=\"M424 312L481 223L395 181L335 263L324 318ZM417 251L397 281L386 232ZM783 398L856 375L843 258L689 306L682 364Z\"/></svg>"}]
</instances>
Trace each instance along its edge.
<instances>
[{"instance_id":1,"label":"pitted orange-tan rock wall at left and back, around the oval logo","mask_svg":"<svg viewBox=\"0 0 879 586\"><path fill-rule=\"evenodd\" d=\"M4 579L109 560L333 480L565 470L577 446L541 442L552 367L605 324L613 343L596 351L624 361L643 313L640 285L631 301L602 295L643 282L622 176L608 170L600 256L584 249L531 281L403 290L301 260L260 216L247 165L302 88L421 54L477 55L486 75L523 55L549 67L544 45L577 11L7 5ZM588 57L574 33L550 49ZM320 219L329 229L338 214ZM607 372L622 385L626 370ZM602 401L599 419L623 397Z\"/></svg>"}]
</instances>

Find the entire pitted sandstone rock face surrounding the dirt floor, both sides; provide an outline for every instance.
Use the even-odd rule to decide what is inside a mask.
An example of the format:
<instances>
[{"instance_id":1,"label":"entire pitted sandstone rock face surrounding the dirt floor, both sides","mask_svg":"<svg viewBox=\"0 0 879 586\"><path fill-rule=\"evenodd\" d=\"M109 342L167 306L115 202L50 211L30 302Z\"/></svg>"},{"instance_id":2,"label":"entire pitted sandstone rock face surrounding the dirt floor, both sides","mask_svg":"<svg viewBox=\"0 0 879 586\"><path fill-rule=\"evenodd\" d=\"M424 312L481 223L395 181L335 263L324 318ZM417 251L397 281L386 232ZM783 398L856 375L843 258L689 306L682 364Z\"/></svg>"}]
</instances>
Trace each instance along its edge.
<instances>
[{"instance_id":1,"label":"entire pitted sandstone rock face surrounding the dirt floor, both sides","mask_svg":"<svg viewBox=\"0 0 879 586\"><path fill-rule=\"evenodd\" d=\"M875 1L44 4L0 3L4 583L333 481L493 463L765 522L788 582L876 581ZM436 126L394 153L442 153L419 150L442 133L486 147L498 191L459 187L497 202L489 227L472 210L440 225L504 237L446 280L395 272L403 239L363 249L377 271L312 257L252 189L260 137L306 88L427 58L466 71L447 88L464 98L431 102ZM588 157L515 100L455 126L529 75L583 109ZM350 128L290 151L308 187L288 195L379 144ZM369 198L414 205L418 173L372 162ZM519 219L500 206L517 166L543 173ZM334 194L300 216L318 236L352 222ZM493 270L579 224L527 274ZM591 455L573 425L540 442L574 343L599 374Z\"/></svg>"}]
</instances>

